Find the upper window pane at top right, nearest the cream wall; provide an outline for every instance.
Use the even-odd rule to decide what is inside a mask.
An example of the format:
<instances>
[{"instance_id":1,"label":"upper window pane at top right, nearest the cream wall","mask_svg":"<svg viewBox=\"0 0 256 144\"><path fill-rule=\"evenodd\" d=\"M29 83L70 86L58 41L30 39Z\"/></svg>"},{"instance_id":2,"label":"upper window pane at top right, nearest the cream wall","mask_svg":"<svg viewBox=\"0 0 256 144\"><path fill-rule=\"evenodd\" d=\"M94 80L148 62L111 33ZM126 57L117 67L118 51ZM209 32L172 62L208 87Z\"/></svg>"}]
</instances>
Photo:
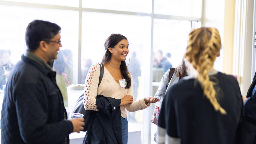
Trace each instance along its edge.
<instances>
[{"instance_id":1,"label":"upper window pane at top right, nearest the cream wall","mask_svg":"<svg viewBox=\"0 0 256 144\"><path fill-rule=\"evenodd\" d=\"M157 14L200 18L202 0L155 0L154 12Z\"/></svg>"}]
</instances>

